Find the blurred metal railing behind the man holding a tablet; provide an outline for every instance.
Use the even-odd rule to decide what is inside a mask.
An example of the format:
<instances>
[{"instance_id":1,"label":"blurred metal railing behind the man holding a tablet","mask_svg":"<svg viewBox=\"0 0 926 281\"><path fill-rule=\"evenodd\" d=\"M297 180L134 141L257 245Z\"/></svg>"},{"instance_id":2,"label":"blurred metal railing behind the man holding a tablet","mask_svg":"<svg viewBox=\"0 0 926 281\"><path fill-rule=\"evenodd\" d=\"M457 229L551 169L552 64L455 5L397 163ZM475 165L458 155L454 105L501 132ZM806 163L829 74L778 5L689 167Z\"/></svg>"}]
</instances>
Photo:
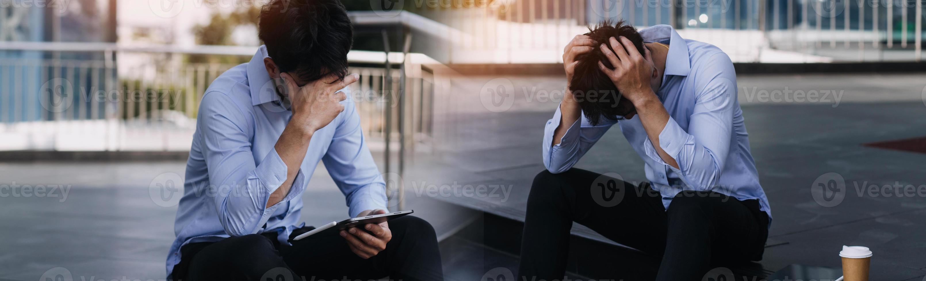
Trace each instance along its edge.
<instances>
[{"instance_id":1,"label":"blurred metal railing behind the man holding a tablet","mask_svg":"<svg viewBox=\"0 0 926 281\"><path fill-rule=\"evenodd\" d=\"M196 116L199 99L209 83L233 65L216 63L186 63L182 55L245 55L257 47L176 45L119 45L115 43L34 43L2 42L0 50L0 134L25 141L5 141L0 150L185 150L192 135L190 120ZM185 53L192 51L190 53ZM2 53L3 51L0 51ZM37 58L40 55L19 55L41 52L83 55L81 58ZM12 54L12 55L10 55ZM136 63L134 57L156 56ZM408 79L432 84L429 65L437 64L427 55L389 53L390 64L415 69ZM81 57L66 55L65 57ZM382 52L352 50L349 71L361 79L352 89L357 92L357 109L362 126L374 150L382 149L388 108L383 95L393 95L403 89L383 88L386 77L400 79L400 69L385 72ZM354 65L361 64L364 67ZM388 73L388 74L387 74ZM54 96L54 91L68 86L71 94L66 102ZM433 95L416 91L409 97L418 99ZM113 98L115 97L115 98ZM417 103L419 101L411 101ZM64 105L64 106L62 106ZM66 106L66 108L65 108ZM414 109L413 106L408 108ZM413 114L413 122L427 123L431 116ZM409 132L415 140L428 140L431 128L414 126ZM49 137L51 136L51 137ZM78 145L79 139L84 147ZM28 141L44 138L51 141ZM95 138L95 139L94 139ZM69 141L61 141L69 139ZM10 140L7 138L6 140Z\"/></svg>"}]
</instances>

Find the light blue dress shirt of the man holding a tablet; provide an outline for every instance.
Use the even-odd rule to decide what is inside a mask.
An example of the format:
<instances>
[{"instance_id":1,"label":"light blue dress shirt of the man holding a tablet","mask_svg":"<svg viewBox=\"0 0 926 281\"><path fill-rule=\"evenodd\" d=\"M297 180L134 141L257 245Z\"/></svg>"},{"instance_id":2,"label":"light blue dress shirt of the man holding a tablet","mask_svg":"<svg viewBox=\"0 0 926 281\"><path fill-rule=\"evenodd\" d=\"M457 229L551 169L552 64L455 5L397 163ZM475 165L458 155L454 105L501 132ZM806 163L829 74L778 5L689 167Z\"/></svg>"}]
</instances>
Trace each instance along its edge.
<instances>
[{"instance_id":1,"label":"light blue dress shirt of the man holding a tablet","mask_svg":"<svg viewBox=\"0 0 926 281\"><path fill-rule=\"evenodd\" d=\"M277 232L287 243L293 229L305 225L299 224L302 191L319 161L344 192L351 217L386 209L385 183L349 98L341 102L344 112L312 136L286 197L265 208L269 194L286 180L286 164L274 145L292 116L274 90L265 57L261 46L250 62L222 73L199 104L174 223L177 238L167 259L169 277L187 243L263 232Z\"/></svg>"}]
</instances>

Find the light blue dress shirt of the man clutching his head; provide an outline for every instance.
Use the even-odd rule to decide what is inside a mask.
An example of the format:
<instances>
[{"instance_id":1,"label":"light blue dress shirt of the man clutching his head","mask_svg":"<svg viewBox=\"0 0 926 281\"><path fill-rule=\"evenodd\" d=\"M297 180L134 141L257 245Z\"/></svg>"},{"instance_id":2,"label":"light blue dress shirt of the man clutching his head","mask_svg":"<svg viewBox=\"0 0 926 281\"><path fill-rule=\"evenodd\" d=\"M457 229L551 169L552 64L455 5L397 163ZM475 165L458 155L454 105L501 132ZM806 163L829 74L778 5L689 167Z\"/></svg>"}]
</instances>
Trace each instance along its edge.
<instances>
[{"instance_id":1,"label":"light blue dress shirt of the man clutching his head","mask_svg":"<svg viewBox=\"0 0 926 281\"><path fill-rule=\"evenodd\" d=\"M743 111L736 98L736 72L730 57L720 48L684 40L668 25L640 31L644 42L668 43L669 55L662 85L656 92L669 112L669 122L659 133L659 147L679 168L666 164L649 141L640 117L608 120L592 126L582 115L560 143L553 135L562 113L557 107L544 129L544 165L551 173L569 170L617 123L633 150L644 160L646 179L662 196L668 210L682 190L713 190L739 200L757 199L761 210L771 208L758 182L756 164L749 153Z\"/></svg>"}]
</instances>

